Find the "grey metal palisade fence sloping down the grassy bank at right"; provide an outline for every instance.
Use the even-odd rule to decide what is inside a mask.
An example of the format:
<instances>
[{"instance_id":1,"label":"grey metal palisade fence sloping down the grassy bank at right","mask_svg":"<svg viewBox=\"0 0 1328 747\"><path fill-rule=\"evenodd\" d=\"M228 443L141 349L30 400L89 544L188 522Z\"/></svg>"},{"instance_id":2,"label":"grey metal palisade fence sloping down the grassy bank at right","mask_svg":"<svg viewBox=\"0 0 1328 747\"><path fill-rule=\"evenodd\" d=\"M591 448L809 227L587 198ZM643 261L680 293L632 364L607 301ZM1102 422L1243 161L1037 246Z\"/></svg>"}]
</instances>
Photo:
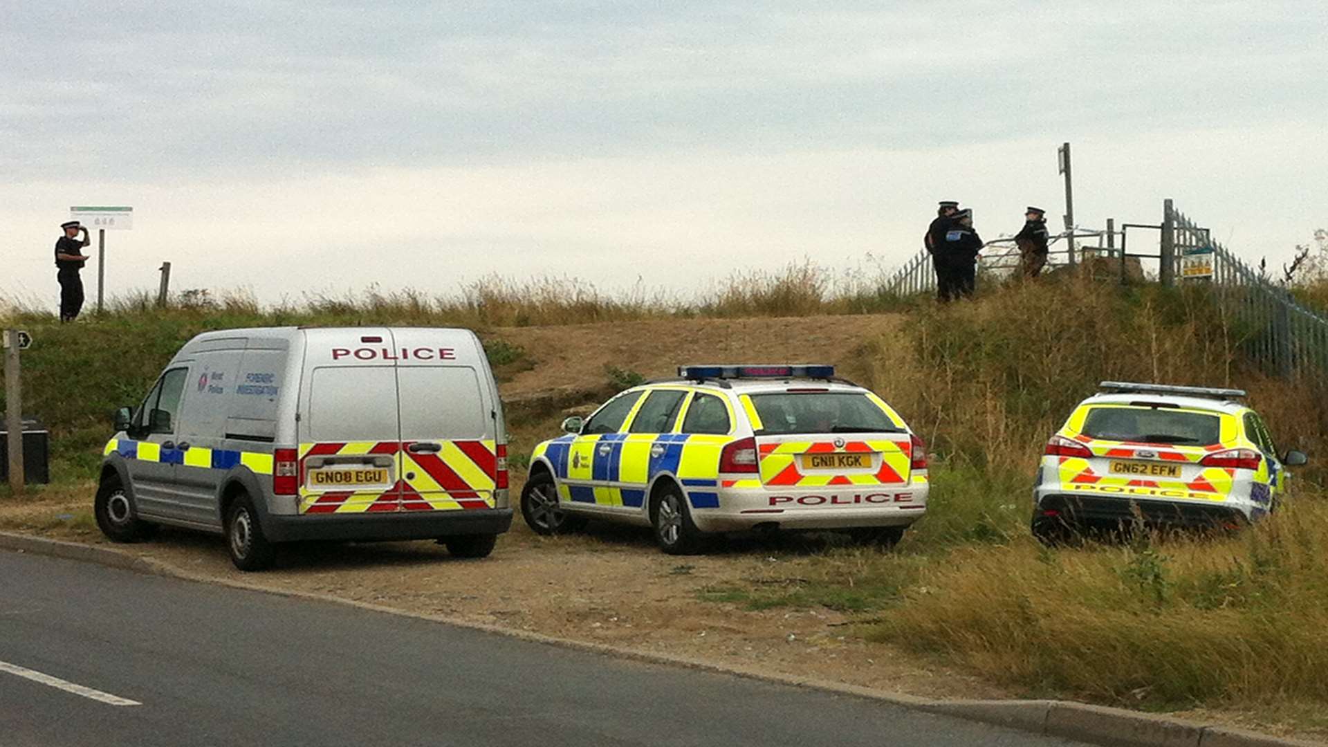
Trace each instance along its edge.
<instances>
[{"instance_id":1,"label":"grey metal palisade fence sloping down the grassy bank at right","mask_svg":"<svg viewBox=\"0 0 1328 747\"><path fill-rule=\"evenodd\" d=\"M1171 201L1163 210L1162 241L1169 239L1182 250L1171 253L1174 278L1181 276L1185 249L1211 247L1214 295L1242 352L1259 368L1288 379L1328 375L1328 319L1296 303L1286 288L1211 241L1208 230L1171 207Z\"/></svg>"}]
</instances>

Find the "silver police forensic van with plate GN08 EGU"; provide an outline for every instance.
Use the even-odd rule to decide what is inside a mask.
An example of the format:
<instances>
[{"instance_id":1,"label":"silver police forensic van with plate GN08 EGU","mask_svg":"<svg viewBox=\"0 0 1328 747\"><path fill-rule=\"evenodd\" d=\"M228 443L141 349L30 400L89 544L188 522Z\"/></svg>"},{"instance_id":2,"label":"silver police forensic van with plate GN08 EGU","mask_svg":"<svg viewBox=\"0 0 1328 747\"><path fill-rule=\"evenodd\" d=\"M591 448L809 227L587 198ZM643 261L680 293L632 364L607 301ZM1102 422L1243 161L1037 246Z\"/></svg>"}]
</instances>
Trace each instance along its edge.
<instances>
[{"instance_id":1,"label":"silver police forensic van with plate GN08 EGU","mask_svg":"<svg viewBox=\"0 0 1328 747\"><path fill-rule=\"evenodd\" d=\"M299 540L483 557L511 525L502 404L469 330L205 332L116 428L94 513L120 542L220 533L258 570Z\"/></svg>"}]
</instances>

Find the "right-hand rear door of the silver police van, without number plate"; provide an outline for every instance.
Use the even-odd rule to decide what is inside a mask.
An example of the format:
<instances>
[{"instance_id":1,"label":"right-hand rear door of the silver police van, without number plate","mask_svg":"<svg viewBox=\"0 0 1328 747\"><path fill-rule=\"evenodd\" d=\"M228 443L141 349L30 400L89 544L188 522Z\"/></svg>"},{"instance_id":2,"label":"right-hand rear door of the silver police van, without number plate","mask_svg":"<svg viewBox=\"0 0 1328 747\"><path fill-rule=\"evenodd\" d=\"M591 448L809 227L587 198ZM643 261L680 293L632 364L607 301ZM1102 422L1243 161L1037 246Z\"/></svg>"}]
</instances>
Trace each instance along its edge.
<instances>
[{"instance_id":1,"label":"right-hand rear door of the silver police van, without number plate","mask_svg":"<svg viewBox=\"0 0 1328 747\"><path fill-rule=\"evenodd\" d=\"M466 330L393 330L401 397L401 509L495 506L497 392Z\"/></svg>"}]
</instances>

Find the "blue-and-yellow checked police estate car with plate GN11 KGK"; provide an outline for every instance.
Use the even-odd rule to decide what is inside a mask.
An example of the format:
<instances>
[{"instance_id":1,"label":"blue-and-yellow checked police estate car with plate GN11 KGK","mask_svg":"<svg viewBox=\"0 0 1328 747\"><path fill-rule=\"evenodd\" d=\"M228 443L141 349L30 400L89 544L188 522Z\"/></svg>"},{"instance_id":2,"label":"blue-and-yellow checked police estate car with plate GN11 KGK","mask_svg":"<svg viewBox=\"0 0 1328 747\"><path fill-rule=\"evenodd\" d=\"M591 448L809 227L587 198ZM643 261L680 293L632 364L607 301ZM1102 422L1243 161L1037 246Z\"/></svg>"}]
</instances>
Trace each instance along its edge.
<instances>
[{"instance_id":1,"label":"blue-and-yellow checked police estate car with plate GN11 KGK","mask_svg":"<svg viewBox=\"0 0 1328 747\"><path fill-rule=\"evenodd\" d=\"M927 510L922 440L831 366L685 366L563 429L535 447L521 496L540 534L599 518L653 526L671 554L753 528L891 545Z\"/></svg>"}]
</instances>

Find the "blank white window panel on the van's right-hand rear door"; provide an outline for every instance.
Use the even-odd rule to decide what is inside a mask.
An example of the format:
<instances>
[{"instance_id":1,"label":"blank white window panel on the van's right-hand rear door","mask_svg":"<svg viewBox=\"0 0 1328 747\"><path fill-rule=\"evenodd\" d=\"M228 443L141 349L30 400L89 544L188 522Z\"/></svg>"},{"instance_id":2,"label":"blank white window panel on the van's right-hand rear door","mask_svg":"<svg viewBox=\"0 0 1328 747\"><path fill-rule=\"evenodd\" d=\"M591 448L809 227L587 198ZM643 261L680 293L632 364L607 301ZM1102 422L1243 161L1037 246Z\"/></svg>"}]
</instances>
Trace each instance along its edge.
<instances>
[{"instance_id":1,"label":"blank white window panel on the van's right-hand rear door","mask_svg":"<svg viewBox=\"0 0 1328 747\"><path fill-rule=\"evenodd\" d=\"M485 436L485 400L475 370L457 366L402 366L401 440L478 440Z\"/></svg>"}]
</instances>

